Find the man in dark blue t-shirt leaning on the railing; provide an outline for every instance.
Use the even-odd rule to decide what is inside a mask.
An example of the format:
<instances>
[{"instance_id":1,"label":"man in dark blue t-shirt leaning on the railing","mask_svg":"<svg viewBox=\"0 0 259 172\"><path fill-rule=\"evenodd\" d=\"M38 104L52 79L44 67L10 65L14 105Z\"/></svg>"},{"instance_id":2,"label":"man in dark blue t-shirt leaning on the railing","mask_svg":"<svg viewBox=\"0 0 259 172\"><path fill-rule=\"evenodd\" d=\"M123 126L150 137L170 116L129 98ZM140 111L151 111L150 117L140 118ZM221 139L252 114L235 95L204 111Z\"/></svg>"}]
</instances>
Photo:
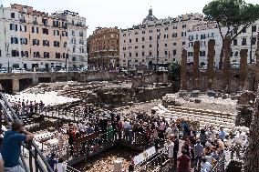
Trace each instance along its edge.
<instances>
[{"instance_id":1,"label":"man in dark blue t-shirt leaning on the railing","mask_svg":"<svg viewBox=\"0 0 259 172\"><path fill-rule=\"evenodd\" d=\"M33 138L34 135L26 131L19 120L12 122L12 129L5 132L1 150L2 157L5 161L5 171L25 172L25 170L19 166L21 144L23 141L30 141Z\"/></svg>"}]
</instances>

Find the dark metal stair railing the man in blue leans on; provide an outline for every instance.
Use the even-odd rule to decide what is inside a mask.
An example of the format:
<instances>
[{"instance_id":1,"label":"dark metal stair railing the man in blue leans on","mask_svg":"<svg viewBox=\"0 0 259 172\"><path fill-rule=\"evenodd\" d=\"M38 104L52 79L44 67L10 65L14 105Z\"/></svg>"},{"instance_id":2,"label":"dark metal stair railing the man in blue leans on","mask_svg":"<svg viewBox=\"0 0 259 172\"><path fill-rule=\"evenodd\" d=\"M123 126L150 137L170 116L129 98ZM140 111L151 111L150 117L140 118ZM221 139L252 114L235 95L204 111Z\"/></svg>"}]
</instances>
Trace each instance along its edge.
<instances>
[{"instance_id":1,"label":"dark metal stair railing the man in blue leans on","mask_svg":"<svg viewBox=\"0 0 259 172\"><path fill-rule=\"evenodd\" d=\"M2 110L2 111L1 111ZM3 113L2 113L3 112ZM5 117L5 122L8 128L11 128L10 124L13 120L17 119L16 112L9 105L3 93L0 93L0 121L2 128L2 115ZM41 150L37 147L34 141L29 141L22 144L22 149L28 152L28 162L23 155L20 156L20 166L23 167L26 172L54 172L49 166L46 157L42 154ZM72 167L67 167L67 171L75 171Z\"/></svg>"}]
</instances>

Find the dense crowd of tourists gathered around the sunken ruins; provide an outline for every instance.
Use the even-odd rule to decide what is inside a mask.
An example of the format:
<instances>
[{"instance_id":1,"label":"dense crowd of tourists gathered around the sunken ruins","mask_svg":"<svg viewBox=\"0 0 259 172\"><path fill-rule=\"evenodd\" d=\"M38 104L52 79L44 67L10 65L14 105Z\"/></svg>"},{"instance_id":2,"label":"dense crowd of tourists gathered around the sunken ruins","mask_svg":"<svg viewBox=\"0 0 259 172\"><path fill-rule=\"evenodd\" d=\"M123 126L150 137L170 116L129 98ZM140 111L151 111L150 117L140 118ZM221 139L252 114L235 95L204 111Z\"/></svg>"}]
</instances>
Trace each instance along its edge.
<instances>
[{"instance_id":1,"label":"dense crowd of tourists gathered around the sunken ruins","mask_svg":"<svg viewBox=\"0 0 259 172\"><path fill-rule=\"evenodd\" d=\"M226 137L223 127L216 131L212 126L206 126L195 131L187 121L177 123L145 113L123 116L112 112L105 115L93 114L93 108L86 106L82 120L77 125L59 126L60 156L66 136L69 153L73 156L86 154L103 143L121 139L131 144L154 146L157 150L166 148L171 167L177 167L180 172L190 171L191 164L198 171L210 171L223 155L223 140ZM98 134L97 137L88 137L94 134ZM86 137L85 141L82 141L82 137ZM79 139L81 145L78 145Z\"/></svg>"}]
</instances>

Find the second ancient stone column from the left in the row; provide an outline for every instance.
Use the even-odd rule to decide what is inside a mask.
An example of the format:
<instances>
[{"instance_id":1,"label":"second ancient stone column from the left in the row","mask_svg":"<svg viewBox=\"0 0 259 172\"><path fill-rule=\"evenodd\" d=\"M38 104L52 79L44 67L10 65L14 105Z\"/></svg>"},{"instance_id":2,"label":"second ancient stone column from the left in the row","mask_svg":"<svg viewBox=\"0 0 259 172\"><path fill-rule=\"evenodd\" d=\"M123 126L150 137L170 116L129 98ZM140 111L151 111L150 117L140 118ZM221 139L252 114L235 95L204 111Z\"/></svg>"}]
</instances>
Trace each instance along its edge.
<instances>
[{"instance_id":1,"label":"second ancient stone column from the left in the row","mask_svg":"<svg viewBox=\"0 0 259 172\"><path fill-rule=\"evenodd\" d=\"M193 84L194 89L199 89L200 69L199 69L199 56L200 56L200 41L195 41L193 46Z\"/></svg>"}]
</instances>

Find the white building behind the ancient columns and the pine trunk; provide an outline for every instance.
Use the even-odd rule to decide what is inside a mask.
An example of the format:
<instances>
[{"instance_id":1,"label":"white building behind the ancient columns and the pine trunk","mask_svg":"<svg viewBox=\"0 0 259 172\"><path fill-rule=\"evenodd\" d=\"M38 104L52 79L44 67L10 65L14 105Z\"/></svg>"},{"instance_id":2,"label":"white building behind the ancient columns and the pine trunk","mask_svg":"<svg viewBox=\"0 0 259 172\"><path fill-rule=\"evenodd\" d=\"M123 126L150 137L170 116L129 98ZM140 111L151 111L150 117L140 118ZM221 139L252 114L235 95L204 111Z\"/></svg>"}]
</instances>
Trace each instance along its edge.
<instances>
[{"instance_id":1,"label":"white building behind the ancient columns and the pine trunk","mask_svg":"<svg viewBox=\"0 0 259 172\"><path fill-rule=\"evenodd\" d=\"M255 62L256 37L259 28L259 21L244 29L241 35L238 35L232 42L231 63L240 63L240 50L248 49L247 63ZM227 28L222 28L223 35L226 34ZM233 35L239 31L233 30ZM252 37L252 40L251 40ZM193 61L193 45L195 41L200 41L200 66L207 66L208 42L210 39L215 40L215 59L214 65L219 66L220 54L223 45L218 25L215 23L202 22L193 25L192 29L187 32L186 50L188 52L188 62Z\"/></svg>"}]
</instances>

